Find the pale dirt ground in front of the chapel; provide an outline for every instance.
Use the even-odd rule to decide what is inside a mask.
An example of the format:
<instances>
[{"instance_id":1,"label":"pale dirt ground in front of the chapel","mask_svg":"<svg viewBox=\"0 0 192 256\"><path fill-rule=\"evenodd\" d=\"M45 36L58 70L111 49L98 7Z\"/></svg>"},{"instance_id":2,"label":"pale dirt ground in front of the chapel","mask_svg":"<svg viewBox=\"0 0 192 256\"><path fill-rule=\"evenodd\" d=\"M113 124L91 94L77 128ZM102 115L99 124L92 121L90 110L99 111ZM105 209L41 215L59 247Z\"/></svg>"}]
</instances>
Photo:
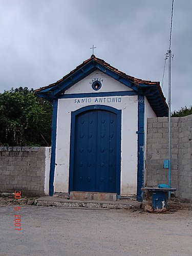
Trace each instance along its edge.
<instances>
[{"instance_id":1,"label":"pale dirt ground in front of the chapel","mask_svg":"<svg viewBox=\"0 0 192 256\"><path fill-rule=\"evenodd\" d=\"M30 203L29 203L30 204ZM20 206L21 231L14 207ZM1 204L0 255L192 255L192 210L57 208Z\"/></svg>"}]
</instances>

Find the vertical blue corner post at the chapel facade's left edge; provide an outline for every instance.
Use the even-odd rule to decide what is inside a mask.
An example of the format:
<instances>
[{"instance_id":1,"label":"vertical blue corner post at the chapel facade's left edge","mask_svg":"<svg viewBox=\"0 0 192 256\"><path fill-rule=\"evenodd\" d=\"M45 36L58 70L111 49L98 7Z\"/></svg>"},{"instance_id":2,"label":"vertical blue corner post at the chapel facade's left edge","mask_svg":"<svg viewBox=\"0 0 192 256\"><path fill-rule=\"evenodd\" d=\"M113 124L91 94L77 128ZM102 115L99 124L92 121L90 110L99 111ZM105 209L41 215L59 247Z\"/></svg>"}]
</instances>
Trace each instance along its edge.
<instances>
[{"instance_id":1,"label":"vertical blue corner post at the chapel facade's left edge","mask_svg":"<svg viewBox=\"0 0 192 256\"><path fill-rule=\"evenodd\" d=\"M55 174L55 154L56 154L56 132L57 132L57 108L58 100L53 100L53 117L52 117L52 144L51 144L51 165L49 176L49 196L52 197L54 193L54 174Z\"/></svg>"}]
</instances>

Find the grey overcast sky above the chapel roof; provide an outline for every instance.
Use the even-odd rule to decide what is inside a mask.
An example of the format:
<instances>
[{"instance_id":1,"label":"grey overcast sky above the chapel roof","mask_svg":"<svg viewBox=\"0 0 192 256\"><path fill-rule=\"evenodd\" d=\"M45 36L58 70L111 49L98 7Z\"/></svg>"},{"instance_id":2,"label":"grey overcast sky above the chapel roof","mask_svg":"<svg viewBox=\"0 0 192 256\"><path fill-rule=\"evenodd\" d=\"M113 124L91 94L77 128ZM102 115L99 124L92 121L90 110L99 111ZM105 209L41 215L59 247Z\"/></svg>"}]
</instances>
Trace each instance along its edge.
<instances>
[{"instance_id":1,"label":"grey overcast sky above the chapel roof","mask_svg":"<svg viewBox=\"0 0 192 256\"><path fill-rule=\"evenodd\" d=\"M37 89L95 55L127 75L162 81L172 0L0 0L0 92ZM175 0L172 110L192 105L192 1ZM163 92L167 98L168 61Z\"/></svg>"}]
</instances>

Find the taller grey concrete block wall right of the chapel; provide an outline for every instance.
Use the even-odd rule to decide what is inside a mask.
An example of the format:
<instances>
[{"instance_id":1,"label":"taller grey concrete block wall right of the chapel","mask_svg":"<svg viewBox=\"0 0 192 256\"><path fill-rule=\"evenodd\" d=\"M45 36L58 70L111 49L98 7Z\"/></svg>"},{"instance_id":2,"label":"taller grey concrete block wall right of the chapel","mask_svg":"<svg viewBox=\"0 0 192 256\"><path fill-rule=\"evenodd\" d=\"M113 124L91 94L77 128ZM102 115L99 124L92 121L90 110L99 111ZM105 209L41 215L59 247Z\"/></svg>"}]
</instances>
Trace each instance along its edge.
<instances>
[{"instance_id":1,"label":"taller grey concrete block wall right of the chapel","mask_svg":"<svg viewBox=\"0 0 192 256\"><path fill-rule=\"evenodd\" d=\"M192 115L172 117L172 187L176 196L192 200ZM148 118L146 185L168 184L168 118Z\"/></svg>"}]
</instances>

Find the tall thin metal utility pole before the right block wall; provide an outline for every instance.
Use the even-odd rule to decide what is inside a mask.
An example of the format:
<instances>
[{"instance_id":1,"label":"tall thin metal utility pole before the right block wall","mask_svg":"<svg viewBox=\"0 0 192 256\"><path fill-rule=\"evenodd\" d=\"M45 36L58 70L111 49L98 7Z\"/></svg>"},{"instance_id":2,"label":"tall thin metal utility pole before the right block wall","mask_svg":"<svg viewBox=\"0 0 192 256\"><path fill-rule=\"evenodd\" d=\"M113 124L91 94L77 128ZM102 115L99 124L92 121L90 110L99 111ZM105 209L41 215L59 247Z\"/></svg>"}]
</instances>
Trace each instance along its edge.
<instances>
[{"instance_id":1,"label":"tall thin metal utility pole before the right block wall","mask_svg":"<svg viewBox=\"0 0 192 256\"><path fill-rule=\"evenodd\" d=\"M172 149L171 149L171 120L170 115L172 112L172 51L168 50L168 185L171 186L171 158L172 158ZM168 193L168 199L170 200L170 191Z\"/></svg>"}]
</instances>

